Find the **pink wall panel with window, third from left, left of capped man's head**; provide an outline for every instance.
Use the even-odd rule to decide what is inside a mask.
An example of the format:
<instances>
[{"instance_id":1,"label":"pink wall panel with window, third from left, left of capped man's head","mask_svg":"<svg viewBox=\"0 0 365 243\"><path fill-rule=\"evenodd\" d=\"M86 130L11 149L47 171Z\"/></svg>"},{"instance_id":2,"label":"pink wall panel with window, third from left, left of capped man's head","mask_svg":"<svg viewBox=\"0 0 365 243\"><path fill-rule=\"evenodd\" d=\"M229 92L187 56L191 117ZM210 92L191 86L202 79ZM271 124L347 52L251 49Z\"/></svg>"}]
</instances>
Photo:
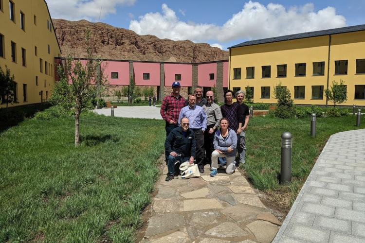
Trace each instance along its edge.
<instances>
[{"instance_id":1,"label":"pink wall panel with window, third from left, left of capped man's head","mask_svg":"<svg viewBox=\"0 0 365 243\"><path fill-rule=\"evenodd\" d=\"M159 86L160 85L160 64L133 62L134 80L136 85ZM143 73L149 73L149 80L143 79Z\"/></svg>"}]
</instances>

